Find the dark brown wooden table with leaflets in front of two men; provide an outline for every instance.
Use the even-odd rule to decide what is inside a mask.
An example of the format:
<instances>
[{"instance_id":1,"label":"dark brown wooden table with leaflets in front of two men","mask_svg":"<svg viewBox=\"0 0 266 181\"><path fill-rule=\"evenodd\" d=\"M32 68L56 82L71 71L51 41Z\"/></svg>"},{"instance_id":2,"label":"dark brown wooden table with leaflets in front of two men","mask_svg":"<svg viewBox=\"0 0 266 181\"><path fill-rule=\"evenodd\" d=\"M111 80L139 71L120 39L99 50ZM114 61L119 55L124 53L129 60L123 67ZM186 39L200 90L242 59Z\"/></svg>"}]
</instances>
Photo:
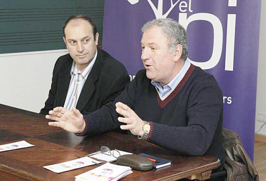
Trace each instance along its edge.
<instances>
[{"instance_id":1,"label":"dark brown wooden table with leaflets in front of two men","mask_svg":"<svg viewBox=\"0 0 266 181\"><path fill-rule=\"evenodd\" d=\"M0 180L74 180L76 175L96 168L88 166L54 173L43 166L77 159L98 151L101 146L135 154L147 153L171 160L173 165L151 171L133 170L122 180L204 180L220 164L215 157L184 157L138 138L109 132L91 137L77 137L60 128L48 126L43 115L0 104L0 144L25 140L34 147L0 152Z\"/></svg>"}]
</instances>

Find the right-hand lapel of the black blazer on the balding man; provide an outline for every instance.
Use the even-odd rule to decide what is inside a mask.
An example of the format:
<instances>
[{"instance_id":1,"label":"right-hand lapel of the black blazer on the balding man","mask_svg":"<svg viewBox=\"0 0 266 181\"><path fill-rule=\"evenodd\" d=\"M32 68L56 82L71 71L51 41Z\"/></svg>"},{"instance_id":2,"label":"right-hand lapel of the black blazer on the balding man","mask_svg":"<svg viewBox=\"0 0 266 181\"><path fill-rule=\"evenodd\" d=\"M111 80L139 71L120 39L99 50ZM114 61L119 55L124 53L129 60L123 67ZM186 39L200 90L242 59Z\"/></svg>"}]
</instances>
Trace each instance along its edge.
<instances>
[{"instance_id":1,"label":"right-hand lapel of the black blazer on the balding man","mask_svg":"<svg viewBox=\"0 0 266 181\"><path fill-rule=\"evenodd\" d=\"M97 48L97 58L93 65L93 68L88 74L87 79L85 81L85 84L82 88L82 91L79 95L79 99L77 102L76 108L82 112L85 106L87 105L87 102L90 101L92 94L95 91L94 83L98 80L101 65L102 65L102 51L101 49Z\"/></svg>"}]
</instances>

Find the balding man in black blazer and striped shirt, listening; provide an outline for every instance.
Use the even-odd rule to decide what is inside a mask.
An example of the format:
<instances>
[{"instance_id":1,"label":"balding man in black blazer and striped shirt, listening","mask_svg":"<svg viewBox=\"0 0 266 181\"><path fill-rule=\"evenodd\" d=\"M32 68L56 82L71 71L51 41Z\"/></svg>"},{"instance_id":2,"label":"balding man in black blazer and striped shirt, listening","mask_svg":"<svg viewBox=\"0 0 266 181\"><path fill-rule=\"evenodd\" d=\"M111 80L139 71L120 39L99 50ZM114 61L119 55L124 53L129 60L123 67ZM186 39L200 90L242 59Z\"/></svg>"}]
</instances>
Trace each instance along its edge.
<instances>
[{"instance_id":1,"label":"balding man in black blazer and striped shirt, listening","mask_svg":"<svg viewBox=\"0 0 266 181\"><path fill-rule=\"evenodd\" d=\"M49 114L55 107L66 108L70 104L71 109L75 107L82 114L87 114L114 100L130 82L129 75L122 63L97 48L99 34L91 18L71 16L65 22L63 34L70 54L61 56L56 61L49 97L40 113ZM80 74L87 71L83 87L79 85L80 87L74 88L75 71ZM71 94L73 90L74 96ZM71 100L77 97L72 104Z\"/></svg>"}]
</instances>

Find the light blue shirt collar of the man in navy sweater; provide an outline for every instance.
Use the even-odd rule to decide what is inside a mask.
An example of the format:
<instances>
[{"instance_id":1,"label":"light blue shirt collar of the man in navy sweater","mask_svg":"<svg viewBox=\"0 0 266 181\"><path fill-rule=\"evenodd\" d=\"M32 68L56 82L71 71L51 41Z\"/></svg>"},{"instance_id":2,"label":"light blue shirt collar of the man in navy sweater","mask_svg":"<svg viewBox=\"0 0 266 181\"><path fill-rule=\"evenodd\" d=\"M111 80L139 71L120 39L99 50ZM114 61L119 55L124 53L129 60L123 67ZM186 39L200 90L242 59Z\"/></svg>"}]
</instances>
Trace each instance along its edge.
<instances>
[{"instance_id":1,"label":"light blue shirt collar of the man in navy sweater","mask_svg":"<svg viewBox=\"0 0 266 181\"><path fill-rule=\"evenodd\" d=\"M189 60L186 60L182 69L178 72L178 74L176 74L173 79L164 86L164 88L169 87L170 89L175 89L175 87L180 83L180 81L183 79L183 77L185 76L186 72L188 71L190 67L190 62ZM159 90L162 88L162 85L159 82L154 82L151 81L151 84L155 87L157 87Z\"/></svg>"}]
</instances>

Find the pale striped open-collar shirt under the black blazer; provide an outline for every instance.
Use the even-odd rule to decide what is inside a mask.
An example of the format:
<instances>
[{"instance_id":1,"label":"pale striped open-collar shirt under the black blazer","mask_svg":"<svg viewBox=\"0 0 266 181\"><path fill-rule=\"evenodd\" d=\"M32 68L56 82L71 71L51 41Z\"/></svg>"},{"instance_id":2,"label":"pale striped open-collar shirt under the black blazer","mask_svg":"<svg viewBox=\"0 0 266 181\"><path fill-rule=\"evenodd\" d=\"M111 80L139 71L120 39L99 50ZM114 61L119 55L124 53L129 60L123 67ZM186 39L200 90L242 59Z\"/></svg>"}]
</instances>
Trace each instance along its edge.
<instances>
[{"instance_id":1,"label":"pale striped open-collar shirt under the black blazer","mask_svg":"<svg viewBox=\"0 0 266 181\"><path fill-rule=\"evenodd\" d=\"M85 84L85 81L87 79L88 74L93 68L93 65L96 61L97 57L97 51L96 54L90 64L87 65L87 67L79 71L77 64L75 61L73 61L72 68L71 68L71 81L69 84L69 90L68 94L66 94L65 102L64 102L64 108L68 110L72 110L72 108L75 108L79 99L79 95L81 93L81 90Z\"/></svg>"}]
</instances>

